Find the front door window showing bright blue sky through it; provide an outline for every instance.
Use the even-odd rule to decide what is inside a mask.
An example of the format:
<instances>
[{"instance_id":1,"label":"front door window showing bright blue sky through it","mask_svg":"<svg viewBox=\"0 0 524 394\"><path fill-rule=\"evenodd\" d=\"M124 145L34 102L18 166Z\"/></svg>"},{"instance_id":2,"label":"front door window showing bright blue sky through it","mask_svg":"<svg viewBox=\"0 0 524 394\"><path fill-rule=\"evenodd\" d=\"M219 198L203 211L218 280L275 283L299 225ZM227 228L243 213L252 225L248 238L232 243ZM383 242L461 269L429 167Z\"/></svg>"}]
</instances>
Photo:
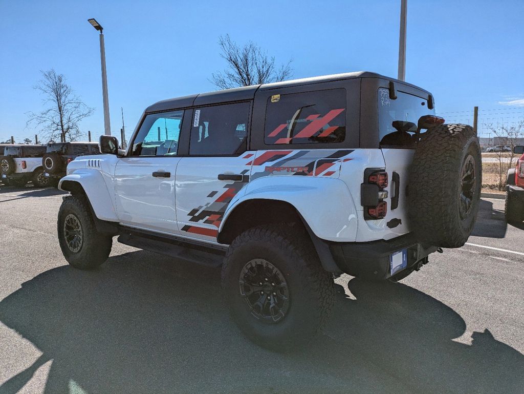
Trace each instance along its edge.
<instances>
[{"instance_id":1,"label":"front door window showing bright blue sky through it","mask_svg":"<svg viewBox=\"0 0 524 394\"><path fill-rule=\"evenodd\" d=\"M170 111L147 115L133 142L133 156L174 156L184 111Z\"/></svg>"}]
</instances>

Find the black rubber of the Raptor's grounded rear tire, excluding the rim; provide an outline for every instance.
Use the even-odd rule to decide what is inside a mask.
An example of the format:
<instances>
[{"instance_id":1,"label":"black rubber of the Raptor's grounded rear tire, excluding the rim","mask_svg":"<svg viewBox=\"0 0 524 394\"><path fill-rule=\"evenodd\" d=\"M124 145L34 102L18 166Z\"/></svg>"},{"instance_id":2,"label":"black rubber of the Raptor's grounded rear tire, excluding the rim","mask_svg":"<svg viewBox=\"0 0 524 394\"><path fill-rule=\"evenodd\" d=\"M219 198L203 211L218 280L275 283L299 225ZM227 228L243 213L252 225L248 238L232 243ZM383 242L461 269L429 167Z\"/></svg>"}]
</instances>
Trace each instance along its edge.
<instances>
[{"instance_id":1,"label":"black rubber of the Raptor's grounded rear tire, excluding the rim","mask_svg":"<svg viewBox=\"0 0 524 394\"><path fill-rule=\"evenodd\" d=\"M241 272L256 259L274 265L288 284L290 306L276 323L252 315L241 296ZM305 344L317 334L329 320L335 294L332 274L322 268L309 236L297 225L260 226L237 236L226 253L222 288L241 331L259 346L276 352Z\"/></svg>"}]
</instances>

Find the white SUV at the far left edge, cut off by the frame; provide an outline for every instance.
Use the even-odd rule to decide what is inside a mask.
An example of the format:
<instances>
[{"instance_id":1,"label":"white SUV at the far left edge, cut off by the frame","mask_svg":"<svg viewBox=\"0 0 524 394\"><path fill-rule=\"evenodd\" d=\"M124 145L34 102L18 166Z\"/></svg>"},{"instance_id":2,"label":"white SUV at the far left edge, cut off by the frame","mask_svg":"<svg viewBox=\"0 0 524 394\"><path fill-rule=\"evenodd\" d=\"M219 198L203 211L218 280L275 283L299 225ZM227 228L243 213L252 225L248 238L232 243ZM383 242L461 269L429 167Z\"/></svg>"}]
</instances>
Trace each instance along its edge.
<instances>
[{"instance_id":1,"label":"white SUV at the far left edge, cut off by the frame","mask_svg":"<svg viewBox=\"0 0 524 394\"><path fill-rule=\"evenodd\" d=\"M0 156L0 176L9 186L24 186L32 181L36 187L49 186L42 167L45 145L8 145Z\"/></svg>"}]
</instances>

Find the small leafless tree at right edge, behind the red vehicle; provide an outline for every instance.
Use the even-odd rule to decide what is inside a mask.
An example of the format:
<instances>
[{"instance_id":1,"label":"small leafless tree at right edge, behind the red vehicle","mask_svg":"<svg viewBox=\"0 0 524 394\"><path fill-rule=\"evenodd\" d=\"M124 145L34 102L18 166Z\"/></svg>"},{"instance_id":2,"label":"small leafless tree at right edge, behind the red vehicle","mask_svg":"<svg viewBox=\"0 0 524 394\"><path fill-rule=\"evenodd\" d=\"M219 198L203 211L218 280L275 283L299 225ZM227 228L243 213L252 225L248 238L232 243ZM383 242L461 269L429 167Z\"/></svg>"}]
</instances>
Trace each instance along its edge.
<instances>
[{"instance_id":1,"label":"small leafless tree at right edge, behind the red vehicle","mask_svg":"<svg viewBox=\"0 0 524 394\"><path fill-rule=\"evenodd\" d=\"M498 189L504 190L506 187L506 174L508 169L513 168L514 159L517 160L513 154L513 148L515 145L519 145L519 141L524 136L524 120L515 123L512 126L497 125L488 126L489 129L496 135L494 140L497 141L497 145L503 145L510 148L511 151L500 150L495 152L497 159L497 176L498 176Z\"/></svg>"}]
</instances>

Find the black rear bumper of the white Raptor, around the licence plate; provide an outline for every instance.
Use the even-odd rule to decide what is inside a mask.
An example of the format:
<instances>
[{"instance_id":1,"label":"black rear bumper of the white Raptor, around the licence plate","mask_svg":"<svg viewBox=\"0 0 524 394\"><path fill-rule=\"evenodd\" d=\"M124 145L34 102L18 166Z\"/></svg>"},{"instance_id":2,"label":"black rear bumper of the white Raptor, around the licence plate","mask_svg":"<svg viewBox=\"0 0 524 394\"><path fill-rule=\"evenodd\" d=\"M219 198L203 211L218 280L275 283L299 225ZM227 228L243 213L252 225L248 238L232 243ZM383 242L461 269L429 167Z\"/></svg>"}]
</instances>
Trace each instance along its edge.
<instances>
[{"instance_id":1,"label":"black rear bumper of the white Raptor, around the licence plate","mask_svg":"<svg viewBox=\"0 0 524 394\"><path fill-rule=\"evenodd\" d=\"M387 241L329 243L333 260L342 272L376 280L390 278L390 256L403 249L407 249L407 267L403 270L419 268L427 263L428 255L437 250L436 247L420 244L412 233ZM401 271L395 274L398 272Z\"/></svg>"}]
</instances>

